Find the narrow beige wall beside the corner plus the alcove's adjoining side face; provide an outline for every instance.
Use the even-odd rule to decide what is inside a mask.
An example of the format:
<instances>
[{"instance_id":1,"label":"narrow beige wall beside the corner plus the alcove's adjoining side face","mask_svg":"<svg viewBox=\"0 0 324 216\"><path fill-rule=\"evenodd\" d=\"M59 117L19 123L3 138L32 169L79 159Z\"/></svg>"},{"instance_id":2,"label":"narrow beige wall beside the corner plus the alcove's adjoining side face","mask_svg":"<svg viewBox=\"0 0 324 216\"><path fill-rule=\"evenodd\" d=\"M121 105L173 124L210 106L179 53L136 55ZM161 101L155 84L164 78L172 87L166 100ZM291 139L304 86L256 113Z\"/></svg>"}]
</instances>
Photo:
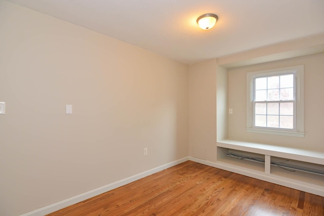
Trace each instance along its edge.
<instances>
[{"instance_id":1,"label":"narrow beige wall beside the corner plus the alcove's adjoining side face","mask_svg":"<svg viewBox=\"0 0 324 216\"><path fill-rule=\"evenodd\" d=\"M228 137L227 69L212 59L189 65L189 156L216 162Z\"/></svg>"}]
</instances>

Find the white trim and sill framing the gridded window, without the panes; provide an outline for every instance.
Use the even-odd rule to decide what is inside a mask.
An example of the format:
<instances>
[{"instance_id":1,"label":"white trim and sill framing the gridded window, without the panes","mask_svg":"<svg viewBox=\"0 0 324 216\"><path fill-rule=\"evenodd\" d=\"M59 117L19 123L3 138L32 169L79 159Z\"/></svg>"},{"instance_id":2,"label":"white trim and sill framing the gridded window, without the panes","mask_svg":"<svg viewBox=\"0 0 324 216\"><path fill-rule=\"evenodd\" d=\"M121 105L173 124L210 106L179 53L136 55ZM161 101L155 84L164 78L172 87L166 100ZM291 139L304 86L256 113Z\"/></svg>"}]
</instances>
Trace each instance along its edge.
<instances>
[{"instance_id":1,"label":"white trim and sill framing the gridded window, without the panes","mask_svg":"<svg viewBox=\"0 0 324 216\"><path fill-rule=\"evenodd\" d=\"M276 73L285 73L296 71L296 131L283 131L281 129L260 129L253 128L253 76L255 75L274 75ZM304 137L304 65L293 67L278 68L272 70L263 70L247 73L247 132L282 135L291 137Z\"/></svg>"}]
</instances>

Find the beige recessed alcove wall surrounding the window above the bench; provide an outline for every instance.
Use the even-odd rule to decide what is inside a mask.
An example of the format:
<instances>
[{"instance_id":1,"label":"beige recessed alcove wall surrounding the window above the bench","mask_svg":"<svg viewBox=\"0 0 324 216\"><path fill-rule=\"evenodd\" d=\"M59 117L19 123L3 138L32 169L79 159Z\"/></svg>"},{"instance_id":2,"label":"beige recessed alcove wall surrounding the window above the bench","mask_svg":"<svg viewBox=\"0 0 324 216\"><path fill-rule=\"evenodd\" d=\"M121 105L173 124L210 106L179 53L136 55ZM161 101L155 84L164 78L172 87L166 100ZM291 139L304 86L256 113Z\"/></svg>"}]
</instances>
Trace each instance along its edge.
<instances>
[{"instance_id":1,"label":"beige recessed alcove wall surrounding the window above the bench","mask_svg":"<svg viewBox=\"0 0 324 216\"><path fill-rule=\"evenodd\" d=\"M248 72L304 65L305 137L287 137L246 132L246 90ZM228 70L229 139L309 150L323 149L324 54L316 54Z\"/></svg>"}]
</instances>

